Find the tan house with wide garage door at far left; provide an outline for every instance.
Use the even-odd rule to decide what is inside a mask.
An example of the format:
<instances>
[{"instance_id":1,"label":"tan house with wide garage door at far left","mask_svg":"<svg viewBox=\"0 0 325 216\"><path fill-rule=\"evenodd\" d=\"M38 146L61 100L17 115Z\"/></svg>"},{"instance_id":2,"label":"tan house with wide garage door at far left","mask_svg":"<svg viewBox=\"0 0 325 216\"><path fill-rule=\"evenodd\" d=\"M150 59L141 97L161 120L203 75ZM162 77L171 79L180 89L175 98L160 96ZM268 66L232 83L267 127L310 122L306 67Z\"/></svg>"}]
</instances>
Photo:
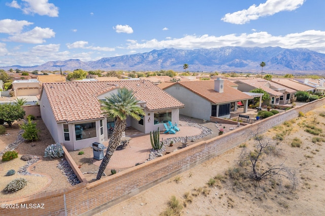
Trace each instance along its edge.
<instances>
[{"instance_id":1,"label":"tan house with wide garage door at far left","mask_svg":"<svg viewBox=\"0 0 325 216\"><path fill-rule=\"evenodd\" d=\"M41 85L38 80L15 80L12 89L15 96L36 96L41 92Z\"/></svg>"}]
</instances>

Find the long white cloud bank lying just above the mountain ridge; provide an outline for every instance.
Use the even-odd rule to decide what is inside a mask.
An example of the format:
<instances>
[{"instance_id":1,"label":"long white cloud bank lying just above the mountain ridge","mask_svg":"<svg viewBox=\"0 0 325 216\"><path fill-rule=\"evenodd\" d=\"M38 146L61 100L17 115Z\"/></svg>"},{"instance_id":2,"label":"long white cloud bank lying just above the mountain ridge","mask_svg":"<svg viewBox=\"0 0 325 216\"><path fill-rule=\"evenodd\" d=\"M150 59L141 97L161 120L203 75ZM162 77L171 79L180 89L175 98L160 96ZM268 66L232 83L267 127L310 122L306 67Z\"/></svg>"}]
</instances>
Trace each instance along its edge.
<instances>
[{"instance_id":1,"label":"long white cloud bank lying just above the mountain ridge","mask_svg":"<svg viewBox=\"0 0 325 216\"><path fill-rule=\"evenodd\" d=\"M130 41L128 41L130 42ZM253 32L250 34L227 34L216 37L213 35L186 35L183 38L158 41L152 39L143 43L127 43L126 49L199 49L220 48L225 46L307 48L325 53L325 31L308 30L301 33L291 33L284 36L271 35L268 32Z\"/></svg>"}]
</instances>

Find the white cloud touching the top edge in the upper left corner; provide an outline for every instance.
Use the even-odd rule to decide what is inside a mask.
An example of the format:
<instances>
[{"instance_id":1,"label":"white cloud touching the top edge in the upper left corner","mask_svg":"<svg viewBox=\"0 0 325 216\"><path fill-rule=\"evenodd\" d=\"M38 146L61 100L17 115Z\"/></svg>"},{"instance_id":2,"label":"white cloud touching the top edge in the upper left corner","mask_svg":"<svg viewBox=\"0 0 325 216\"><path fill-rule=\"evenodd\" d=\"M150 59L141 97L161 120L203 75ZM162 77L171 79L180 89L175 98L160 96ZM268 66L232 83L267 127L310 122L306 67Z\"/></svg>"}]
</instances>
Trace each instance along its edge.
<instances>
[{"instance_id":1,"label":"white cloud touching the top edge in the upper left corner","mask_svg":"<svg viewBox=\"0 0 325 216\"><path fill-rule=\"evenodd\" d=\"M24 14L39 14L41 16L58 17L58 7L48 0L22 0L22 4L18 5L17 1L6 4L9 7L21 9Z\"/></svg>"}]
</instances>

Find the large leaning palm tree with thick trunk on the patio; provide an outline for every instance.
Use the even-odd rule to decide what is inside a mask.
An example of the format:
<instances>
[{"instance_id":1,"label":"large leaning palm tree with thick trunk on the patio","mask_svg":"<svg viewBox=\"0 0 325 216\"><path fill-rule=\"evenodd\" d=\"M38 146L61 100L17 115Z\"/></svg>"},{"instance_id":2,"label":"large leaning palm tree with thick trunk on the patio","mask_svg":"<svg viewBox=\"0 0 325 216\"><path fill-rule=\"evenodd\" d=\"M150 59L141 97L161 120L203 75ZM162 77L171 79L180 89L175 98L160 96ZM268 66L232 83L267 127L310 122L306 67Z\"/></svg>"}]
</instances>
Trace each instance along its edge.
<instances>
[{"instance_id":1,"label":"large leaning palm tree with thick trunk on the patio","mask_svg":"<svg viewBox=\"0 0 325 216\"><path fill-rule=\"evenodd\" d=\"M116 94L106 97L106 101L100 102L103 104L101 107L104 111L103 114L116 119L116 121L112 137L108 143L108 148L98 170L96 180L101 179L108 162L116 148L121 143L122 132L125 131L126 127L126 118L131 116L139 121L141 119L140 116L145 114L141 107L136 105L139 100L135 98L133 90L129 90L125 87L118 89Z\"/></svg>"}]
</instances>

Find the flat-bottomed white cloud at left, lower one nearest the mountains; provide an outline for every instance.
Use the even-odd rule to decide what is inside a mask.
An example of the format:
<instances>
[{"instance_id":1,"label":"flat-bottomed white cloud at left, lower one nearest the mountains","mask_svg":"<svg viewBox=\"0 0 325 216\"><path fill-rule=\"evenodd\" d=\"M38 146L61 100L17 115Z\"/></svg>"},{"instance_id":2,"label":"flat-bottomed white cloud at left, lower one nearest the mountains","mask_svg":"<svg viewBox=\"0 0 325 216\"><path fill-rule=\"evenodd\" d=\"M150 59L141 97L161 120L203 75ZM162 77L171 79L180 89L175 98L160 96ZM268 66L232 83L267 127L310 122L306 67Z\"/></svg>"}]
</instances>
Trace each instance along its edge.
<instances>
[{"instance_id":1,"label":"flat-bottomed white cloud at left, lower one nearest the mountains","mask_svg":"<svg viewBox=\"0 0 325 216\"><path fill-rule=\"evenodd\" d=\"M24 33L15 33L5 41L28 43L28 44L42 44L44 39L53 38L55 32L50 28L35 27L30 31Z\"/></svg>"}]
</instances>

